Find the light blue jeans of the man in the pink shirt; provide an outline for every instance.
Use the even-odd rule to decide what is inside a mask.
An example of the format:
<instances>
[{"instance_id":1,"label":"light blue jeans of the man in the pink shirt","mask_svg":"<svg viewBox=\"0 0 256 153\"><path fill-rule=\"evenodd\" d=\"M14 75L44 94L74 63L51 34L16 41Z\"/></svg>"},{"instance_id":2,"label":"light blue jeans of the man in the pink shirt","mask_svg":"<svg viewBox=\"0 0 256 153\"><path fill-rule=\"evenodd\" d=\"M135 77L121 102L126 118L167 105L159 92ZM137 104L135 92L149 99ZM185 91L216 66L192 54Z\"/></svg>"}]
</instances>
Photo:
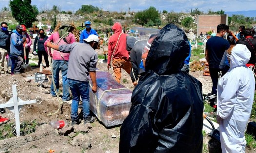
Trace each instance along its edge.
<instances>
[{"instance_id":1,"label":"light blue jeans of the man in the pink shirt","mask_svg":"<svg viewBox=\"0 0 256 153\"><path fill-rule=\"evenodd\" d=\"M61 70L62 72L62 81L63 81L63 101L68 101L70 98L69 94L69 87L68 87L68 61L64 60L53 60L53 80L54 84L56 86L57 92L59 92L59 72ZM53 82L51 83L51 94L55 96L54 88L53 88Z\"/></svg>"}]
</instances>

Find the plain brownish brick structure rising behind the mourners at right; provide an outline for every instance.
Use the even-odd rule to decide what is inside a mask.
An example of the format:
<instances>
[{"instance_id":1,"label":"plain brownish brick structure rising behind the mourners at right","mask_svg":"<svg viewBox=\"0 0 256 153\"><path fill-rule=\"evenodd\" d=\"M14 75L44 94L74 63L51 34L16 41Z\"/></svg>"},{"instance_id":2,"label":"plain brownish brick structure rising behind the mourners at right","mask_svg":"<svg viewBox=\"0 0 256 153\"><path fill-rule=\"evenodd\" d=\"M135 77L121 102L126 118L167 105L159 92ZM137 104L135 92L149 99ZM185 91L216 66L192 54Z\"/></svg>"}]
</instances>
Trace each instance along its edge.
<instances>
[{"instance_id":1,"label":"plain brownish brick structure rising behind the mourners at right","mask_svg":"<svg viewBox=\"0 0 256 153\"><path fill-rule=\"evenodd\" d=\"M203 32L211 30L217 33L217 26L219 24L228 25L228 15L198 15L197 17L197 36Z\"/></svg>"}]
</instances>

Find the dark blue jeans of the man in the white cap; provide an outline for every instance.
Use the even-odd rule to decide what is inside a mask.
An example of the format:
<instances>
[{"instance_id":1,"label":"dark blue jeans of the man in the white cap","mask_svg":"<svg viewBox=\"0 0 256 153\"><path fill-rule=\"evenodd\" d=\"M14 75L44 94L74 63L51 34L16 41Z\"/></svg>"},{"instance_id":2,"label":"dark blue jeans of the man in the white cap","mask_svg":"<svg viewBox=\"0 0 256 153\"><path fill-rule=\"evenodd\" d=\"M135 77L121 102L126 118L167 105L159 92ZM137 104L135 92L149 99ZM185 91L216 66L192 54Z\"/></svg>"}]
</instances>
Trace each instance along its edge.
<instances>
[{"instance_id":1,"label":"dark blue jeans of the man in the white cap","mask_svg":"<svg viewBox=\"0 0 256 153\"><path fill-rule=\"evenodd\" d=\"M90 97L89 97L89 82L68 79L68 85L73 95L71 104L71 120L78 119L78 103L80 97L83 104L83 119L90 117Z\"/></svg>"}]
</instances>

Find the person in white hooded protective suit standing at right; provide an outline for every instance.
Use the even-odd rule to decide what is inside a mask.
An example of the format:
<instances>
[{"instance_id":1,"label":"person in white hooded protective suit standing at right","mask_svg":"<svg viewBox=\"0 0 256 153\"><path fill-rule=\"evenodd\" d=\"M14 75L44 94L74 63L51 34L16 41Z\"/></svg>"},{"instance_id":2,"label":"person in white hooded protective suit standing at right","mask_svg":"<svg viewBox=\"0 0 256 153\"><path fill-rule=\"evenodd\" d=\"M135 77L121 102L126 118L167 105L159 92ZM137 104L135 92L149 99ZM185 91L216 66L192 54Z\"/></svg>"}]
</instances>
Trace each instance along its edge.
<instances>
[{"instance_id":1,"label":"person in white hooded protective suit standing at right","mask_svg":"<svg viewBox=\"0 0 256 153\"><path fill-rule=\"evenodd\" d=\"M230 69L219 80L217 88L217 122L223 153L244 153L246 124L251 114L255 80L246 67L251 52L237 44L227 52Z\"/></svg>"}]
</instances>

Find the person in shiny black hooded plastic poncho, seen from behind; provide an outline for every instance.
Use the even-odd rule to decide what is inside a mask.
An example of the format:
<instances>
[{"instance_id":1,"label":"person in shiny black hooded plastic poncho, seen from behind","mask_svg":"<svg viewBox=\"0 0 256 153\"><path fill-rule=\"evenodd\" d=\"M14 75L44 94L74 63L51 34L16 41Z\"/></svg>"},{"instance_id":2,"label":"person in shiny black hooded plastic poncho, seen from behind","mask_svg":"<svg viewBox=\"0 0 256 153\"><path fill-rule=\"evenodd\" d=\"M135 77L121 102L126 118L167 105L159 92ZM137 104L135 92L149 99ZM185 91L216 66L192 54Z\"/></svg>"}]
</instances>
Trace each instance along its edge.
<instances>
[{"instance_id":1,"label":"person in shiny black hooded plastic poncho, seen from behind","mask_svg":"<svg viewBox=\"0 0 256 153\"><path fill-rule=\"evenodd\" d=\"M173 24L160 30L147 59L146 75L133 90L119 152L202 152L202 84L180 71L188 39Z\"/></svg>"}]
</instances>

